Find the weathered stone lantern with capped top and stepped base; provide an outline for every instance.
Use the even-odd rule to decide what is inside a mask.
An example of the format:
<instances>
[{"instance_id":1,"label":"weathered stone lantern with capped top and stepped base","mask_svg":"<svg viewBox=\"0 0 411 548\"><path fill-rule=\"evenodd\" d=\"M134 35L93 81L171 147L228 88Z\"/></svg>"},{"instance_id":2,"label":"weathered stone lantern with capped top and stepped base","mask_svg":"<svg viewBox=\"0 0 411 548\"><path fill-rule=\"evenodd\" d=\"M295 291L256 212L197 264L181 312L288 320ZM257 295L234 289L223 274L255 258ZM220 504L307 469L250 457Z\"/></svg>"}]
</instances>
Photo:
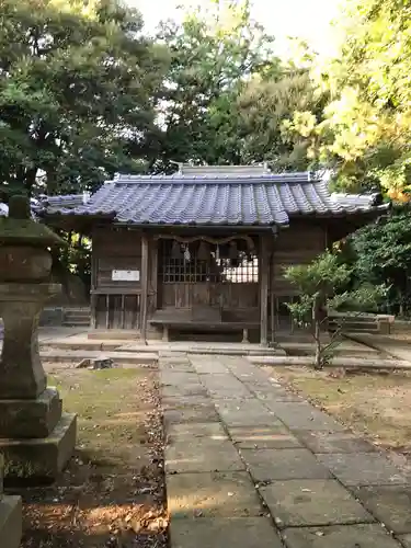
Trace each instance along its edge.
<instances>
[{"instance_id":1,"label":"weathered stone lantern with capped top and stepped base","mask_svg":"<svg viewBox=\"0 0 411 548\"><path fill-rule=\"evenodd\" d=\"M31 218L28 201L10 199L0 218L0 318L4 338L0 357L0 453L5 481L53 481L76 445L76 415L62 413L38 354L38 319L59 293L49 283L49 248L62 241Z\"/></svg>"}]
</instances>

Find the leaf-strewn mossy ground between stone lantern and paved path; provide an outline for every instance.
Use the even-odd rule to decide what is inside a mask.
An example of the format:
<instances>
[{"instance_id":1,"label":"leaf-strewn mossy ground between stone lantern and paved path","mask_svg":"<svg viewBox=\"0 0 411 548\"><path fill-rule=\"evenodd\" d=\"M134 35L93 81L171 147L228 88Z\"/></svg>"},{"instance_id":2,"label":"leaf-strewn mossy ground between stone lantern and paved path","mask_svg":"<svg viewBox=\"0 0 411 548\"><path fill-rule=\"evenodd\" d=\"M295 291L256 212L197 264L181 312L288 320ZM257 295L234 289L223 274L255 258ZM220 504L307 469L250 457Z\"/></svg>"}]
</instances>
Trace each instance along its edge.
<instances>
[{"instance_id":1,"label":"leaf-strewn mossy ground between stone lantern and paved path","mask_svg":"<svg viewBox=\"0 0 411 548\"><path fill-rule=\"evenodd\" d=\"M22 548L167 546L156 375L52 366L49 386L78 413L77 452L55 486L20 491Z\"/></svg>"}]
</instances>

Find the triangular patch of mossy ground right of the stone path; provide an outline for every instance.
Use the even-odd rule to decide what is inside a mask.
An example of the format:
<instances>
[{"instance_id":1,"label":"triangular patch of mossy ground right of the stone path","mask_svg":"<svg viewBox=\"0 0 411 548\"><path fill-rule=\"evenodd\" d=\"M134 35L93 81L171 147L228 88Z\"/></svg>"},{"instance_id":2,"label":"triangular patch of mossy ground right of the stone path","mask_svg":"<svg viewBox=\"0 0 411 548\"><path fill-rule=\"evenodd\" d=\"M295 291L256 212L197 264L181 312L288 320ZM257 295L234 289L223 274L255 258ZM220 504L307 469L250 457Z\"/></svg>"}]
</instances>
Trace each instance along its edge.
<instances>
[{"instance_id":1,"label":"triangular patch of mossy ground right of the stone path","mask_svg":"<svg viewBox=\"0 0 411 548\"><path fill-rule=\"evenodd\" d=\"M411 453L411 374L407 372L316 372L308 367L265 368L342 423L377 445Z\"/></svg>"}]
</instances>

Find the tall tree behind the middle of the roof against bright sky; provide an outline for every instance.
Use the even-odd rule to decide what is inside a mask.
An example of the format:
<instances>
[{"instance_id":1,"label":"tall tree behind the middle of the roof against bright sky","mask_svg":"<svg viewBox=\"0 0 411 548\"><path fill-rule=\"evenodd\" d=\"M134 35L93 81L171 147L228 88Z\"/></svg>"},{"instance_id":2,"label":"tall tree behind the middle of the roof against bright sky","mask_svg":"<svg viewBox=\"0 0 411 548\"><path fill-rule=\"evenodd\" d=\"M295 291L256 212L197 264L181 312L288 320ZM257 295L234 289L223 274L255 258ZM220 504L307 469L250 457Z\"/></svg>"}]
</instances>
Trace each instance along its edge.
<instances>
[{"instance_id":1,"label":"tall tree behind the middle of the roof against bright sky","mask_svg":"<svg viewBox=\"0 0 411 548\"><path fill-rule=\"evenodd\" d=\"M250 18L249 1L210 1L185 13L182 24L168 21L159 39L171 53L160 104L164 133L155 169L172 161L241 163L237 99L244 82L259 73L277 75L273 38Z\"/></svg>"}]
</instances>

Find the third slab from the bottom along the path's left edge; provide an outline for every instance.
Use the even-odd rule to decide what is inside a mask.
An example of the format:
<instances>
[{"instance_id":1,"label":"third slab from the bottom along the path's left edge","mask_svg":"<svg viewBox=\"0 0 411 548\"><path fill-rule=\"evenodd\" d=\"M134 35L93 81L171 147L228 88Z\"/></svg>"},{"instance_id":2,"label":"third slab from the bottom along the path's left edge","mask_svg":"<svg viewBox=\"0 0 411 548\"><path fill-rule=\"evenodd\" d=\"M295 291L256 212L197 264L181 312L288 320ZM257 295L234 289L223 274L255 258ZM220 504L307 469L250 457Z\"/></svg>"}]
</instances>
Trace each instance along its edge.
<instances>
[{"instance_id":1,"label":"third slab from the bottom along the path's left edge","mask_svg":"<svg viewBox=\"0 0 411 548\"><path fill-rule=\"evenodd\" d=\"M244 468L229 441L186 438L165 446L167 472L213 472Z\"/></svg>"}]
</instances>

